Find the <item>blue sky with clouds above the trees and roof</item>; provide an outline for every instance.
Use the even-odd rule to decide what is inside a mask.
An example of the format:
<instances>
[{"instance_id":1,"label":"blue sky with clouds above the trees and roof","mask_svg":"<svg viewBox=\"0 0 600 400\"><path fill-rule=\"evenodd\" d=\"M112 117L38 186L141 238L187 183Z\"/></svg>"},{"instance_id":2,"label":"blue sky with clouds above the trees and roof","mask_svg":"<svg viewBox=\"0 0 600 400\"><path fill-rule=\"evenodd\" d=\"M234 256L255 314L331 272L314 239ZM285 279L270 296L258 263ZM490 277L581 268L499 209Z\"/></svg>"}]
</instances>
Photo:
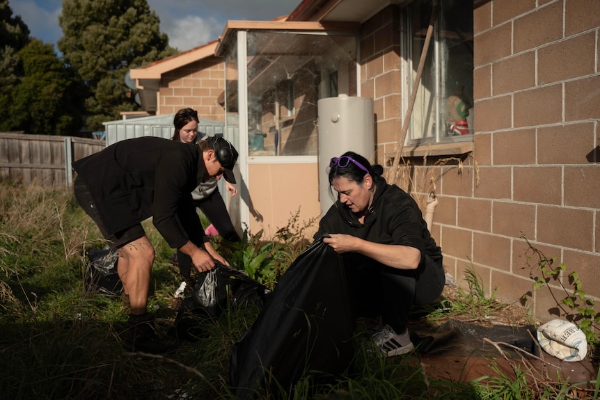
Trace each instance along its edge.
<instances>
[{"instance_id":1,"label":"blue sky with clouds above the trees and roof","mask_svg":"<svg viewBox=\"0 0 600 400\"><path fill-rule=\"evenodd\" d=\"M180 51L216 40L228 19L264 21L291 13L301 0L147 0L160 18L169 45ZM31 36L56 44L62 0L8 0L13 16L20 15Z\"/></svg>"}]
</instances>

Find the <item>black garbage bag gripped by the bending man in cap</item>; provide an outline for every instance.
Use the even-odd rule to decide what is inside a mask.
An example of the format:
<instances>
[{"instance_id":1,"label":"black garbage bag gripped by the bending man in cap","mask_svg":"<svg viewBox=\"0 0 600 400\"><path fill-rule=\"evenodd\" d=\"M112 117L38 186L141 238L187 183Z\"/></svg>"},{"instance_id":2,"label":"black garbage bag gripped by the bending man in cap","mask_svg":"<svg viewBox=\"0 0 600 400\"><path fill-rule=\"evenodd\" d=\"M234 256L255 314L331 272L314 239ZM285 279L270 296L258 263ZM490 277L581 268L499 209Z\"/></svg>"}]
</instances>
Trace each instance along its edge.
<instances>
[{"instance_id":1,"label":"black garbage bag gripped by the bending man in cap","mask_svg":"<svg viewBox=\"0 0 600 400\"><path fill-rule=\"evenodd\" d=\"M194 340L202 333L203 319L216 318L228 307L265 303L265 286L230 266L216 263L214 269L198 274L194 290L185 296L171 334L180 340Z\"/></svg>"}]
</instances>

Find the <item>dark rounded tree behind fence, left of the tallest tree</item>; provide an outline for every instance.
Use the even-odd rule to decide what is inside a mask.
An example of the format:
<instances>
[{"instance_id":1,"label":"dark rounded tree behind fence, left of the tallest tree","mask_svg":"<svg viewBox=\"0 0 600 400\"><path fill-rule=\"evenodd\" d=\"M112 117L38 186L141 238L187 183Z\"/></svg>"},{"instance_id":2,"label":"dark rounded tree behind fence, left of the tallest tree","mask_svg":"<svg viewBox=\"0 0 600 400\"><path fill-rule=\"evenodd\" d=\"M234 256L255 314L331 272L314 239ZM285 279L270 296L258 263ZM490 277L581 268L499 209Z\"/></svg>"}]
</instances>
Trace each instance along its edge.
<instances>
[{"instance_id":1,"label":"dark rounded tree behind fence, left of the tallest tree","mask_svg":"<svg viewBox=\"0 0 600 400\"><path fill-rule=\"evenodd\" d=\"M81 127L77 83L54 47L33 39L18 53L24 76L13 89L9 122L26 133L74 135Z\"/></svg>"}]
</instances>

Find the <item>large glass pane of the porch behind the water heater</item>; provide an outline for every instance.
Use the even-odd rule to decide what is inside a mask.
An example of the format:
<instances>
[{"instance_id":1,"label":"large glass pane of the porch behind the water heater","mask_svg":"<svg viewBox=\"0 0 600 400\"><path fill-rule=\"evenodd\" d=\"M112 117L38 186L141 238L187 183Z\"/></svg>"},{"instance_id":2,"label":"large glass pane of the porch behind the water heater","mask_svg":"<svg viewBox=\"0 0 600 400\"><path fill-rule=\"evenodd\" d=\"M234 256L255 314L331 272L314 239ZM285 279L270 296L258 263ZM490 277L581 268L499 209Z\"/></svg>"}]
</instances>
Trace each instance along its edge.
<instances>
[{"instance_id":1,"label":"large glass pane of the porch behind the water heater","mask_svg":"<svg viewBox=\"0 0 600 400\"><path fill-rule=\"evenodd\" d=\"M331 95L331 72L339 93L356 96L355 36L248 31L246 37L248 155L317 155L317 102ZM237 88L229 83L234 115Z\"/></svg>"}]
</instances>

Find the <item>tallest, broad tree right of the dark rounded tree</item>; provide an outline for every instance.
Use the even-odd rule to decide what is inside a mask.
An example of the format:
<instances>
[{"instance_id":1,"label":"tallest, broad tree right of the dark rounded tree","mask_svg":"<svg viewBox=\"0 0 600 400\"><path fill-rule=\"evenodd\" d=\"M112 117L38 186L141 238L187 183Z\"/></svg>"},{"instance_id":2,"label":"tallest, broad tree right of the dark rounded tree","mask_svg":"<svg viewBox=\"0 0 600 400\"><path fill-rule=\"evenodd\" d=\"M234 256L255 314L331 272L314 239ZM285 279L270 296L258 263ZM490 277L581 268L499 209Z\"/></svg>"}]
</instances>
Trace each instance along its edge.
<instances>
[{"instance_id":1,"label":"tallest, broad tree right of the dark rounded tree","mask_svg":"<svg viewBox=\"0 0 600 400\"><path fill-rule=\"evenodd\" d=\"M159 23L146 0L63 0L57 47L88 90L88 129L102 130L121 111L139 109L125 73L176 53Z\"/></svg>"}]
</instances>

